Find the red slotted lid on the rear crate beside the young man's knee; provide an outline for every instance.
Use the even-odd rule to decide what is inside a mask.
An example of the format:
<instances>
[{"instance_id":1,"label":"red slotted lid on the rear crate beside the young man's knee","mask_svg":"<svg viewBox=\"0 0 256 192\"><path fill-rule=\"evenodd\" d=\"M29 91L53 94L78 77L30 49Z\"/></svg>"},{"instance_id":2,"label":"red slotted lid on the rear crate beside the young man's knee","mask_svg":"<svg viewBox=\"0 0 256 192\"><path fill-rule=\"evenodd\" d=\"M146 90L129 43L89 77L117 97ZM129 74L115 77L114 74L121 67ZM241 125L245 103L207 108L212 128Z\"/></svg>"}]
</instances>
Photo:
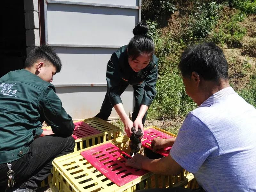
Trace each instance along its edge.
<instances>
[{"instance_id":1,"label":"red slotted lid on the rear crate beside the young man's knee","mask_svg":"<svg viewBox=\"0 0 256 192\"><path fill-rule=\"evenodd\" d=\"M100 131L92 128L91 126L89 126L87 123L84 123L83 121L79 121L74 124L75 124L75 129L74 129L74 133L72 135L72 137L74 137L74 139L80 139L80 138L84 138L84 137L88 137L91 135L96 135L96 134L101 133Z\"/></svg>"}]
</instances>

